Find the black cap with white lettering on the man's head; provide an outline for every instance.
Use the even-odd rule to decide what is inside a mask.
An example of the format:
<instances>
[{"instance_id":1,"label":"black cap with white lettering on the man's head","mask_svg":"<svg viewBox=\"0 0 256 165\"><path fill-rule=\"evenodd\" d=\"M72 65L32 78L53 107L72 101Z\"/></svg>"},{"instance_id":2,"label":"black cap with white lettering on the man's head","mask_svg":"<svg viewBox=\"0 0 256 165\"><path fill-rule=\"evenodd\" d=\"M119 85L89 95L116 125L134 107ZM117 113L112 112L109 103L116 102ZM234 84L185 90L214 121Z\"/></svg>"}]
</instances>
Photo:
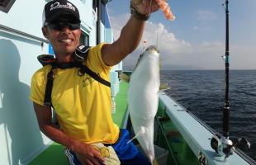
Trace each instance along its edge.
<instances>
[{"instance_id":1,"label":"black cap with white lettering on the man's head","mask_svg":"<svg viewBox=\"0 0 256 165\"><path fill-rule=\"evenodd\" d=\"M73 22L81 23L78 8L67 0L54 0L45 4L43 12L43 26L58 20L62 16L69 16Z\"/></svg>"}]
</instances>

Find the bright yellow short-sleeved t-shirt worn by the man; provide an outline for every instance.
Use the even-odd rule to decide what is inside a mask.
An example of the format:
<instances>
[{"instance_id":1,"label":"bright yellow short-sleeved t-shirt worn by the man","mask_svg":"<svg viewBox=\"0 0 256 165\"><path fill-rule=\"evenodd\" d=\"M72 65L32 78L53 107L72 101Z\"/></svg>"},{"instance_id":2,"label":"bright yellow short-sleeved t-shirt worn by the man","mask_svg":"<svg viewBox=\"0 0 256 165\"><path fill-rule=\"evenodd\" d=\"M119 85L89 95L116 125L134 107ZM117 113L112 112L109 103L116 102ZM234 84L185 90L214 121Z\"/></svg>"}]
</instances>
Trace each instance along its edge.
<instances>
[{"instance_id":1,"label":"bright yellow short-sleeved t-shirt worn by the man","mask_svg":"<svg viewBox=\"0 0 256 165\"><path fill-rule=\"evenodd\" d=\"M111 67L102 60L102 45L92 47L86 65L101 78L110 81ZM40 68L31 79L31 101L44 105L45 85L50 65ZM87 73L78 76L78 68L54 69L52 105L62 131L85 143L115 143L119 128L111 117L111 88Z\"/></svg>"}]
</instances>

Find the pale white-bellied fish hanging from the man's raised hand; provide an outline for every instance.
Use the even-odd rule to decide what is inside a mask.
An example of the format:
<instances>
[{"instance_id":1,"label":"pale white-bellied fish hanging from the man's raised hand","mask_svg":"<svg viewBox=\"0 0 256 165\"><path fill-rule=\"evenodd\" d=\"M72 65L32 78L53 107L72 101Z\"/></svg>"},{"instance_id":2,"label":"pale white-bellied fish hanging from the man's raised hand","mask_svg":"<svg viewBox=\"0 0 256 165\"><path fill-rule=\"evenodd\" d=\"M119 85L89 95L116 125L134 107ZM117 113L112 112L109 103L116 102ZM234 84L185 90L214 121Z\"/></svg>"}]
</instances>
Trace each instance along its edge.
<instances>
[{"instance_id":1,"label":"pale white-bellied fish hanging from the man's raised hand","mask_svg":"<svg viewBox=\"0 0 256 165\"><path fill-rule=\"evenodd\" d=\"M136 138L139 141L141 148L152 164L156 164L154 157L154 116L159 106L159 56L158 47L151 45L140 54L140 59L130 78L121 74L121 79L126 79L125 81L129 82L128 111L135 132L133 139Z\"/></svg>"}]
</instances>

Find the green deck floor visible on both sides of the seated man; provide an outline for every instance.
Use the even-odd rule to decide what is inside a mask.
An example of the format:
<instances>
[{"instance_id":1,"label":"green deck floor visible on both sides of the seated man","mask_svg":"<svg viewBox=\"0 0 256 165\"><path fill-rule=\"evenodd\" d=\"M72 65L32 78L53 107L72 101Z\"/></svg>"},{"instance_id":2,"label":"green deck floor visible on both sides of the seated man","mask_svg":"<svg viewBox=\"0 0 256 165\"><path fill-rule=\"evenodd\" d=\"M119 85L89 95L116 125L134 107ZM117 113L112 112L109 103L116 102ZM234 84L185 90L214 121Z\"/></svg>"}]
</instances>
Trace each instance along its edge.
<instances>
[{"instance_id":1,"label":"green deck floor visible on both sides of the seated man","mask_svg":"<svg viewBox=\"0 0 256 165\"><path fill-rule=\"evenodd\" d=\"M128 83L120 82L120 92L116 95L116 112L113 114L113 120L121 128L127 121L127 89ZM34 158L29 165L69 165L64 156L63 146L57 143L51 144L44 152Z\"/></svg>"}]
</instances>

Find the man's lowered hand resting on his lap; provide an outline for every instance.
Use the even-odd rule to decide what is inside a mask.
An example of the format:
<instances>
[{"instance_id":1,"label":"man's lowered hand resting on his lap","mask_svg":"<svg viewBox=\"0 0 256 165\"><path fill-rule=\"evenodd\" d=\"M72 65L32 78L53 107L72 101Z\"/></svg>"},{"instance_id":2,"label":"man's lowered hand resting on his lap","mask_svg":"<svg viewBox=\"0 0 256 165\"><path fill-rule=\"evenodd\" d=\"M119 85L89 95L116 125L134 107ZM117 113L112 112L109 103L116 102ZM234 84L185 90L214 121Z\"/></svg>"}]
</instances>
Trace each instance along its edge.
<instances>
[{"instance_id":1,"label":"man's lowered hand resting on his lap","mask_svg":"<svg viewBox=\"0 0 256 165\"><path fill-rule=\"evenodd\" d=\"M99 151L91 144L84 144L76 141L73 147L75 148L74 152L76 153L78 160L83 165L100 165L105 162Z\"/></svg>"}]
</instances>

